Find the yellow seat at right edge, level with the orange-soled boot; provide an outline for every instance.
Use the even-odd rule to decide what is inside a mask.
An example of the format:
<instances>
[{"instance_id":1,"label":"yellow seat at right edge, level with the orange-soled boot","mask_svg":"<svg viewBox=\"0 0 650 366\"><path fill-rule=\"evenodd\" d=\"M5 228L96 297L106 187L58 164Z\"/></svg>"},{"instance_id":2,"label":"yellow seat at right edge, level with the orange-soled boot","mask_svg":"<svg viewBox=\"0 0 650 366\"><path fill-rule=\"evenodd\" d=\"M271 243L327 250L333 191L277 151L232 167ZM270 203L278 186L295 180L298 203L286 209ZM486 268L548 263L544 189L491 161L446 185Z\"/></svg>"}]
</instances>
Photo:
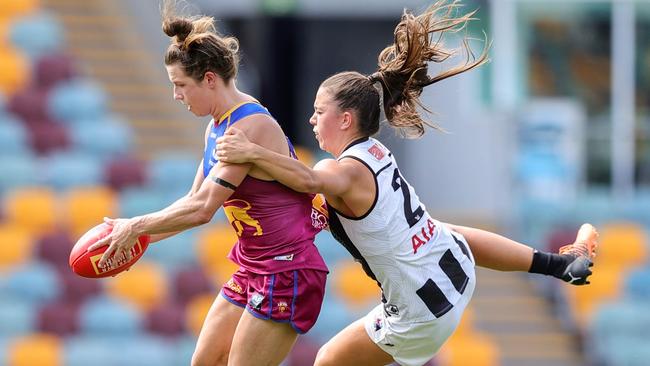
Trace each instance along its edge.
<instances>
[{"instance_id":1,"label":"yellow seat at right edge, level with the orange-soled boot","mask_svg":"<svg viewBox=\"0 0 650 366\"><path fill-rule=\"evenodd\" d=\"M595 265L630 267L648 258L644 228L632 222L608 223L599 230L599 246Z\"/></svg>"}]
</instances>

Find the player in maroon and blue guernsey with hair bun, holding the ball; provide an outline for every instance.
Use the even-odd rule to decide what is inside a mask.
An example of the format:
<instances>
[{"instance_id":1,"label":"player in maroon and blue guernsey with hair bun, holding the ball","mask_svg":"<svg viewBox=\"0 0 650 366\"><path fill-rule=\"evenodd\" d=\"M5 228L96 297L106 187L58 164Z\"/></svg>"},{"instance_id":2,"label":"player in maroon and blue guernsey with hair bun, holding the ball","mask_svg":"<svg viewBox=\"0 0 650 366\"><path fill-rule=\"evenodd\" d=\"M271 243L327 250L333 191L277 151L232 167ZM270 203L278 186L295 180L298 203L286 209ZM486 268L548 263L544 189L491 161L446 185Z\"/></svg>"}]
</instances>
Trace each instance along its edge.
<instances>
[{"instance_id":1,"label":"player in maroon and blue guernsey with hair bun, holding the ball","mask_svg":"<svg viewBox=\"0 0 650 366\"><path fill-rule=\"evenodd\" d=\"M172 37L165 65L174 98L196 116L213 117L203 161L188 195L148 215L107 219L111 234L90 250L109 245L100 265L113 255L130 258L137 237L161 240L208 223L223 206L239 237L229 258L240 269L208 312L192 365L277 365L320 312L327 267L314 236L326 219L312 209L313 195L288 189L252 164L215 159L216 138L234 123L257 144L294 154L269 112L237 89L237 40L219 35L212 18L178 17L174 7L165 3L163 30Z\"/></svg>"}]
</instances>

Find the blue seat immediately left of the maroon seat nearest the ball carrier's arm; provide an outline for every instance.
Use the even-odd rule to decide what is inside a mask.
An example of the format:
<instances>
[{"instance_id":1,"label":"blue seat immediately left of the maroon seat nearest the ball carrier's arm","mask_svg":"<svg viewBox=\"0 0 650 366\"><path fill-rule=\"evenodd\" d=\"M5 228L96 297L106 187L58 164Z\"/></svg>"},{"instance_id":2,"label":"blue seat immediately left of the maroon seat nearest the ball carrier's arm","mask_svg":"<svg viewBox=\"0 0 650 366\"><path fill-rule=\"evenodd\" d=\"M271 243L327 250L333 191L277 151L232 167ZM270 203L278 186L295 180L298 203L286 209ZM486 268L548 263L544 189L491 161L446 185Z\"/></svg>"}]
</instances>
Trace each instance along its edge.
<instances>
[{"instance_id":1,"label":"blue seat immediately left of the maroon seat nearest the ball carrier's arm","mask_svg":"<svg viewBox=\"0 0 650 366\"><path fill-rule=\"evenodd\" d=\"M46 182L59 190L97 186L103 181L101 162L90 155L60 152L45 158Z\"/></svg>"}]
</instances>

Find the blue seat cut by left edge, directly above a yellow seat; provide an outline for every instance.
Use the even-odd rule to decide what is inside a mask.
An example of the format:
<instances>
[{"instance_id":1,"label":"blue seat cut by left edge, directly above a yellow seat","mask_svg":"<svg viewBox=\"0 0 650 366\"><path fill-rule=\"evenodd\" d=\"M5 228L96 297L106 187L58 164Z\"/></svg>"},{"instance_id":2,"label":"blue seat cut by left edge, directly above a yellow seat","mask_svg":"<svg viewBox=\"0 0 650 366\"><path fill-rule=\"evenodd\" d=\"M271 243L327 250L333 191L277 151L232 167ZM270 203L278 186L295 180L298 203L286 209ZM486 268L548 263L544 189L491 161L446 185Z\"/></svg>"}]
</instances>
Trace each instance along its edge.
<instances>
[{"instance_id":1,"label":"blue seat cut by left edge, directly above a yellow seat","mask_svg":"<svg viewBox=\"0 0 650 366\"><path fill-rule=\"evenodd\" d=\"M0 155L0 191L40 185L43 175L38 161L30 154Z\"/></svg>"}]
</instances>

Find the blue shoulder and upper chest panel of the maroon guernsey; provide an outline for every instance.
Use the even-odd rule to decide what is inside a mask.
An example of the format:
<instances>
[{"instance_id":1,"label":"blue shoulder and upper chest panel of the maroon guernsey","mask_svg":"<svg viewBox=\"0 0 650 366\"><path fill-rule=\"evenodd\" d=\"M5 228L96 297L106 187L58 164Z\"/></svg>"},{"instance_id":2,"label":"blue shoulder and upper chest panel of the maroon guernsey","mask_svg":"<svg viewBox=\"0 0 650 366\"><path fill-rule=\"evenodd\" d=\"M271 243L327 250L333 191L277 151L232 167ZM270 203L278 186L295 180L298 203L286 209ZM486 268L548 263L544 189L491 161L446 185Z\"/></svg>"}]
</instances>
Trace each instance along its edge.
<instances>
[{"instance_id":1,"label":"blue shoulder and upper chest panel of the maroon guernsey","mask_svg":"<svg viewBox=\"0 0 650 366\"><path fill-rule=\"evenodd\" d=\"M223 136L223 134L226 132L226 129L228 129L228 127L232 126L237 121L240 121L243 118L254 114L266 114L267 116L273 118L271 113L269 113L269 111L258 102L247 101L236 104L234 107L230 108L228 112L224 113L219 118L218 122L215 122L214 120L212 121L210 134L208 135L205 151L203 152L204 178L207 178L207 176L210 174L210 170L212 170L212 167L217 165L219 162L219 159L217 159L216 151L217 138ZM291 141L289 141L289 138L287 138L287 143L289 144L291 156L295 157L296 153L293 145L291 144Z\"/></svg>"}]
</instances>

